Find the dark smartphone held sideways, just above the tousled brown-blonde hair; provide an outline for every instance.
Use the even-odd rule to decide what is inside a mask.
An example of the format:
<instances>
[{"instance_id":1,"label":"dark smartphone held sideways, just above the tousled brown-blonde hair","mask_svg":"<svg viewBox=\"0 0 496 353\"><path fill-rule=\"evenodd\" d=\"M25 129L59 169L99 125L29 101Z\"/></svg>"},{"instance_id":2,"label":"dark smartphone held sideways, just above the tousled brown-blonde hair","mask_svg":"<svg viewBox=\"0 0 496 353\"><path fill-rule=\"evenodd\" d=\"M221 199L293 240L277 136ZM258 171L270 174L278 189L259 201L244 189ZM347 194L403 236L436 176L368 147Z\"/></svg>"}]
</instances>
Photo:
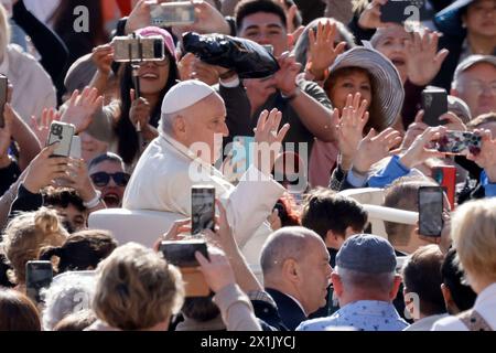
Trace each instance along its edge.
<instances>
[{"instance_id":1,"label":"dark smartphone held sideways, just above the tousled brown-blonde hair","mask_svg":"<svg viewBox=\"0 0 496 353\"><path fill-rule=\"evenodd\" d=\"M163 254L168 263L177 267L198 267L195 253L200 252L208 258L207 246L205 240L173 240L162 242L159 250Z\"/></svg>"}]
</instances>

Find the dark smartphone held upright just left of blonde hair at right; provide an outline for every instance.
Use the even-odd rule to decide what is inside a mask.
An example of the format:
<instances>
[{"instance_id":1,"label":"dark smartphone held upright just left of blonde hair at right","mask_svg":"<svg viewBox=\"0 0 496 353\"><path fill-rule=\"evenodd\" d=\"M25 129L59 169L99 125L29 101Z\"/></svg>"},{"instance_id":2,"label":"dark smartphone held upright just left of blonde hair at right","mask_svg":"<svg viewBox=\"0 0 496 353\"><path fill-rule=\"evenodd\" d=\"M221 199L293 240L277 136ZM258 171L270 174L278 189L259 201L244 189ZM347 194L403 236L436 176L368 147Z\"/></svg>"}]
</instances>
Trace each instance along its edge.
<instances>
[{"instance_id":1,"label":"dark smartphone held upright just left of blonde hair at right","mask_svg":"<svg viewBox=\"0 0 496 353\"><path fill-rule=\"evenodd\" d=\"M419 234L440 237L443 231L443 189L421 186L419 189Z\"/></svg>"}]
</instances>

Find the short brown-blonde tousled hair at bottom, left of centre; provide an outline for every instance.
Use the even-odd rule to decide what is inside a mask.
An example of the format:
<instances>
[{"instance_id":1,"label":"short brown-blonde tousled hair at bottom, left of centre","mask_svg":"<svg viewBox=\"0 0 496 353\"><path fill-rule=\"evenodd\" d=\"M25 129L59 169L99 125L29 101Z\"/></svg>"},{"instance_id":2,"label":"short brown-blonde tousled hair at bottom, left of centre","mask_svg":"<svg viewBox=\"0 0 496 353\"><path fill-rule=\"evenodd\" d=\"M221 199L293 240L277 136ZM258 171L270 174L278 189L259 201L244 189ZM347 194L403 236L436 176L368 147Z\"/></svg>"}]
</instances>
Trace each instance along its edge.
<instances>
[{"instance_id":1,"label":"short brown-blonde tousled hair at bottom, left of centre","mask_svg":"<svg viewBox=\"0 0 496 353\"><path fill-rule=\"evenodd\" d=\"M118 247L97 271L93 307L112 328L150 329L181 310L184 288L180 271L142 245Z\"/></svg>"}]
</instances>

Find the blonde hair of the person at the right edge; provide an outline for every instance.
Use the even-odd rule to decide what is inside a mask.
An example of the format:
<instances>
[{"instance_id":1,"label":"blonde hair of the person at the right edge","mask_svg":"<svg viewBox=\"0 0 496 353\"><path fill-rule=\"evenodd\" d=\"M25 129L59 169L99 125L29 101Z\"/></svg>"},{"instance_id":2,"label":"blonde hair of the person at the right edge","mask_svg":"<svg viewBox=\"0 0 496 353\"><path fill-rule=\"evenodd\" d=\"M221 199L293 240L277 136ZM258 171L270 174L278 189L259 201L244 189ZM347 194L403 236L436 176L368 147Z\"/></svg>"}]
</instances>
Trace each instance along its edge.
<instances>
[{"instance_id":1,"label":"blonde hair of the person at the right edge","mask_svg":"<svg viewBox=\"0 0 496 353\"><path fill-rule=\"evenodd\" d=\"M496 200L461 205L451 221L460 265L470 275L496 281Z\"/></svg>"}]
</instances>

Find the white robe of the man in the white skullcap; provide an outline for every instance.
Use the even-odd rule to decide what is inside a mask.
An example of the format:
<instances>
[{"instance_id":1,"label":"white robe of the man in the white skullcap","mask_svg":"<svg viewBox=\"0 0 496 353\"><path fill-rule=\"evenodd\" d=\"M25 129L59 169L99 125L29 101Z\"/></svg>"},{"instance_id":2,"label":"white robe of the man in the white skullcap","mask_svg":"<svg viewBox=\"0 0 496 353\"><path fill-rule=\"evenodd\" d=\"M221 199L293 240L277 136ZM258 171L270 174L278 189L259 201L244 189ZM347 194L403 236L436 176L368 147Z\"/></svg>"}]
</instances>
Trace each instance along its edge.
<instances>
[{"instance_id":1,"label":"white robe of the man in the white skullcap","mask_svg":"<svg viewBox=\"0 0 496 353\"><path fill-rule=\"evenodd\" d=\"M235 188L220 171L196 158L185 146L169 136L159 136L138 161L122 205L128 210L190 216L191 188L198 184L215 186L216 197L226 207L227 220L242 254L248 264L258 265L260 249L271 233L267 217L284 188L252 165Z\"/></svg>"}]
</instances>

